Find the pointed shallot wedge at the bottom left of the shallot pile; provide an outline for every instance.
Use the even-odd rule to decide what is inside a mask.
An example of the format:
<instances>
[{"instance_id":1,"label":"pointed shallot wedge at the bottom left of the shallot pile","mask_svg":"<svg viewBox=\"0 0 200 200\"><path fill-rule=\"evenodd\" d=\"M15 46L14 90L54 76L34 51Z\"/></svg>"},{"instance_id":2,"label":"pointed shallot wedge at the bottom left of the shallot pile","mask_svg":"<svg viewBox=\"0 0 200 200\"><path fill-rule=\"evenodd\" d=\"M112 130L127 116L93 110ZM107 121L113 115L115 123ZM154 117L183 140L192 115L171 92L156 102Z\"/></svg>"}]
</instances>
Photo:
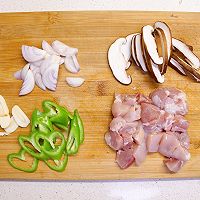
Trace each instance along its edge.
<instances>
[{"instance_id":1,"label":"pointed shallot wedge at the bottom left of the shallot pile","mask_svg":"<svg viewBox=\"0 0 200 200\"><path fill-rule=\"evenodd\" d=\"M29 69L24 79L22 88L19 92L19 96L30 93L33 90L34 86L35 86L34 75L33 72Z\"/></svg>"}]
</instances>

